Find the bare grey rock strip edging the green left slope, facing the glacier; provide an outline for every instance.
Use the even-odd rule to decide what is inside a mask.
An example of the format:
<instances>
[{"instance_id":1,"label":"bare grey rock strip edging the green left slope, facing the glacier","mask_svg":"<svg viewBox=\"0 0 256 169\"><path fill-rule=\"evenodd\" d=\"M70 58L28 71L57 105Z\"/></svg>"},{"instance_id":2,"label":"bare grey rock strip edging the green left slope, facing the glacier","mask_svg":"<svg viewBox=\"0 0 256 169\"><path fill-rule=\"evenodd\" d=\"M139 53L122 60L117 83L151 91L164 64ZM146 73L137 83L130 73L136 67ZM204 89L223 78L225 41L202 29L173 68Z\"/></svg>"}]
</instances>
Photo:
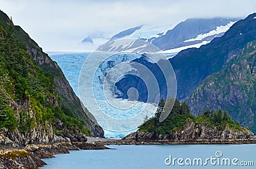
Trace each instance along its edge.
<instances>
[{"instance_id":1,"label":"bare grey rock strip edging the green left slope, facing the glacier","mask_svg":"<svg viewBox=\"0 0 256 169\"><path fill-rule=\"evenodd\" d=\"M16 26L17 38L26 46L29 54L32 56L33 60L38 63L38 66L46 73L51 73L54 77L54 82L56 83L56 88L58 94L60 94L61 101L64 105L72 110L74 115L78 119L86 122L87 128L92 130L93 136L104 136L103 129L97 124L96 119L93 115L83 106L83 103L77 98L72 87L68 83L67 78L61 71L58 64L42 51L35 41L29 38L29 35L25 33L19 26Z\"/></svg>"}]
</instances>

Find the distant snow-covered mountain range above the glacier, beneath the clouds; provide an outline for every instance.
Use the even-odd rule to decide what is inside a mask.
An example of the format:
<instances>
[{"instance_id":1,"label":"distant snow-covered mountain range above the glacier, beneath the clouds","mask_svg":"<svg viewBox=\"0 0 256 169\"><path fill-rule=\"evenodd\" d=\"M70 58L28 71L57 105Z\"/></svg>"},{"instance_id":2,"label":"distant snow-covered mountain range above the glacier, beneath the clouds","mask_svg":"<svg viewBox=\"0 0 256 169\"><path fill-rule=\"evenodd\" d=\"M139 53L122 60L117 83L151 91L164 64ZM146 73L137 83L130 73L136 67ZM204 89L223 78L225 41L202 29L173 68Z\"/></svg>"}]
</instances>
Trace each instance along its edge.
<instances>
[{"instance_id":1,"label":"distant snow-covered mountain range above the glacier, beneath the clouds","mask_svg":"<svg viewBox=\"0 0 256 169\"><path fill-rule=\"evenodd\" d=\"M88 36L84 41L102 45L107 41L137 39L152 43L166 52L180 52L186 48L200 47L213 38L222 36L237 20L239 18L188 18L175 27L141 25L120 31L111 38L100 39ZM138 48L138 45L140 44L129 44L129 47Z\"/></svg>"}]
</instances>

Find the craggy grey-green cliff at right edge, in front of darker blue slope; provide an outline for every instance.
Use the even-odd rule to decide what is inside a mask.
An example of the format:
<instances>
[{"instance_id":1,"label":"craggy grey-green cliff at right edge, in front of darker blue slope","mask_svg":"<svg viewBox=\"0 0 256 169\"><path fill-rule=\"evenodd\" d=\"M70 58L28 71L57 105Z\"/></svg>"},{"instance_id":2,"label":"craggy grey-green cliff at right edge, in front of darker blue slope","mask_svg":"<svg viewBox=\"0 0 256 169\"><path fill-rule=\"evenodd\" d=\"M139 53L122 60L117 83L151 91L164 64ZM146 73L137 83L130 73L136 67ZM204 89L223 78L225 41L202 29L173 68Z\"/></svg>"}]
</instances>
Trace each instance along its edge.
<instances>
[{"instance_id":1,"label":"craggy grey-green cliff at right edge, in front of darker blue slope","mask_svg":"<svg viewBox=\"0 0 256 169\"><path fill-rule=\"evenodd\" d=\"M206 108L227 110L234 121L256 132L255 102L256 42L252 41L234 56L225 68L205 78L186 99L191 112Z\"/></svg>"}]
</instances>

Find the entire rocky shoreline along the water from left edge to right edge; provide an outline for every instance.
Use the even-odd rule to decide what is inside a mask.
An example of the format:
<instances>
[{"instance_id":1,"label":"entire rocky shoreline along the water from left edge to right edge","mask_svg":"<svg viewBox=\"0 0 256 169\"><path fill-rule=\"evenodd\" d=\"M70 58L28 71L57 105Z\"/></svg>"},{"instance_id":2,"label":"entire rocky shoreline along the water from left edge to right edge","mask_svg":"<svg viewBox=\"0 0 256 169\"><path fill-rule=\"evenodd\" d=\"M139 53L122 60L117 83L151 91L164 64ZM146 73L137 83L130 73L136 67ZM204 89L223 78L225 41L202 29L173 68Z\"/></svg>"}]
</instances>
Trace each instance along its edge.
<instances>
[{"instance_id":1,"label":"entire rocky shoreline along the water from left edge to right edge","mask_svg":"<svg viewBox=\"0 0 256 169\"><path fill-rule=\"evenodd\" d=\"M105 145L184 145L184 144L251 144L253 139L200 139L200 140L129 140L112 138L90 138L87 142L54 143L52 145L27 145L20 149L0 151L0 168L36 169L46 165L41 159L54 158L55 154L68 154L69 151L109 149Z\"/></svg>"}]
</instances>

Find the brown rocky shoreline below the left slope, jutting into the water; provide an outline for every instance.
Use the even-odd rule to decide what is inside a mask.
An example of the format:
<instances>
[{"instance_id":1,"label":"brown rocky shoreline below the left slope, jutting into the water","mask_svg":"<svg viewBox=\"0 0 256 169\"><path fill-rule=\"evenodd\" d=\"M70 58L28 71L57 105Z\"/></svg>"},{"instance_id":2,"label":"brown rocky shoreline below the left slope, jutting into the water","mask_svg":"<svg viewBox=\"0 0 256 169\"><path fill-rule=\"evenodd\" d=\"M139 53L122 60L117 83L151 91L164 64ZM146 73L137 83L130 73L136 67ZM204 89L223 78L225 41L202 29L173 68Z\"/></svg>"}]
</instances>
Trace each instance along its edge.
<instances>
[{"instance_id":1,"label":"brown rocky shoreline below the left slope, jutting into the water","mask_svg":"<svg viewBox=\"0 0 256 169\"><path fill-rule=\"evenodd\" d=\"M54 143L53 145L27 145L22 149L0 151L0 168L36 169L46 165L41 159L54 158L55 154L68 154L69 151L109 149L102 143Z\"/></svg>"}]
</instances>

